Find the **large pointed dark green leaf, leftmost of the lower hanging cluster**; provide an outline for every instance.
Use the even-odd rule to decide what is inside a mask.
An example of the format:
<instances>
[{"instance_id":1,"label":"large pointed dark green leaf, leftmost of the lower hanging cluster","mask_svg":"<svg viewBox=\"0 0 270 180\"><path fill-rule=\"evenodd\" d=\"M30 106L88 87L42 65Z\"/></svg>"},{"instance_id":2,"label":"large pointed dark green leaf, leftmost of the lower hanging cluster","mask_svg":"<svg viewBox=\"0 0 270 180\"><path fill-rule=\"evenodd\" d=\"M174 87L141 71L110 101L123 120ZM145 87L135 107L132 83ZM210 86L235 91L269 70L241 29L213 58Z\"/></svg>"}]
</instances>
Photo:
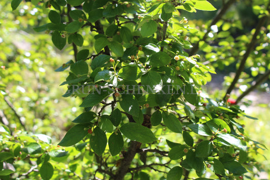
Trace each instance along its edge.
<instances>
[{"instance_id":1,"label":"large pointed dark green leaf, leftmost of the lower hanging cluster","mask_svg":"<svg viewBox=\"0 0 270 180\"><path fill-rule=\"evenodd\" d=\"M64 147L75 145L87 135L86 128L87 124L77 124L71 127L58 145Z\"/></svg>"}]
</instances>

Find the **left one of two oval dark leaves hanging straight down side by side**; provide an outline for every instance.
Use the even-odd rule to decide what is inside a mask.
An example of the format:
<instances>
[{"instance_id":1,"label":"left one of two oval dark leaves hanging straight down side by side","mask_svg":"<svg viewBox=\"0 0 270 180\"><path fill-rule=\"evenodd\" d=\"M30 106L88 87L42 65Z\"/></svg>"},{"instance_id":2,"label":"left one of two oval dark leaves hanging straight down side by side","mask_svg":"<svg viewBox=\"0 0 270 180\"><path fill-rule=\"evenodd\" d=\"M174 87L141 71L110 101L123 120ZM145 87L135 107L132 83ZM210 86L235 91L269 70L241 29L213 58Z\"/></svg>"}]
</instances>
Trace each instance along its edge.
<instances>
[{"instance_id":1,"label":"left one of two oval dark leaves hanging straight down side by side","mask_svg":"<svg viewBox=\"0 0 270 180\"><path fill-rule=\"evenodd\" d=\"M101 156L105 151L107 146L107 136L99 127L96 127L90 136L90 146L98 156Z\"/></svg>"}]
</instances>

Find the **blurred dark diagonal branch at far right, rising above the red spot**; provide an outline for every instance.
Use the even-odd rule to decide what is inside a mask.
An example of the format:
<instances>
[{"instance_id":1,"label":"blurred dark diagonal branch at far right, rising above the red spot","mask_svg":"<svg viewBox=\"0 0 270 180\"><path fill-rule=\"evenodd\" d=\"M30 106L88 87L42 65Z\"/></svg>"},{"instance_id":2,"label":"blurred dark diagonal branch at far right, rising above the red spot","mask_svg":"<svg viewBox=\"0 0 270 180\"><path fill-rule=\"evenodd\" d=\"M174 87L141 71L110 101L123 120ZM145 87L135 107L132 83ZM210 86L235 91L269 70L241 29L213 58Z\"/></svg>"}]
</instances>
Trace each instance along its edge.
<instances>
[{"instance_id":1,"label":"blurred dark diagonal branch at far right, rising above the red spot","mask_svg":"<svg viewBox=\"0 0 270 180\"><path fill-rule=\"evenodd\" d=\"M252 50L254 49L255 44L257 43L257 35L260 33L260 29L263 26L264 22L267 20L267 18L268 18L267 16L263 16L262 18L260 18L260 20L256 26L256 30L253 34L253 37L252 37L252 39L247 47L247 50L246 50L246 52L241 60L240 66L236 71L236 76L235 76L233 82L230 84L229 88L227 89L226 94L230 94L233 91L233 89L235 88L235 85L236 85L237 81L239 80L239 77L240 77L242 71L245 68L245 63L247 61L247 58L250 55L250 53L252 52ZM226 97L226 95L223 97L223 99L225 99L225 97Z\"/></svg>"}]
</instances>

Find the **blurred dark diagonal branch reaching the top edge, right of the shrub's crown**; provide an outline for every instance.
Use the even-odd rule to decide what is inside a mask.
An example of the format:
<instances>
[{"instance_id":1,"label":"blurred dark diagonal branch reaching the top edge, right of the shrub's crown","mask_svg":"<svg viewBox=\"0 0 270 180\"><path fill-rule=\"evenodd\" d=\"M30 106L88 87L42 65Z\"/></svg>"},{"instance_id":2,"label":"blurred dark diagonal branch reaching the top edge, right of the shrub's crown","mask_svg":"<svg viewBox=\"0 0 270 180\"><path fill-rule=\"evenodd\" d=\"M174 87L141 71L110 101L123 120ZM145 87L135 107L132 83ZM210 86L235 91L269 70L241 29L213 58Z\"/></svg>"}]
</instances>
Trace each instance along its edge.
<instances>
[{"instance_id":1,"label":"blurred dark diagonal branch reaching the top edge, right of the shrub's crown","mask_svg":"<svg viewBox=\"0 0 270 180\"><path fill-rule=\"evenodd\" d=\"M201 41L206 41L207 35L211 30L211 26L215 25L220 19L221 17L226 13L226 11L229 9L229 7L235 2L236 0L229 0L226 4L223 5L223 7L221 9L218 10L216 16L214 17L214 19L212 20L211 24L208 26L206 33L204 34L204 37ZM198 50L199 50L199 43L200 41L198 41L194 47L190 50L188 56L192 56L194 55Z\"/></svg>"}]
</instances>

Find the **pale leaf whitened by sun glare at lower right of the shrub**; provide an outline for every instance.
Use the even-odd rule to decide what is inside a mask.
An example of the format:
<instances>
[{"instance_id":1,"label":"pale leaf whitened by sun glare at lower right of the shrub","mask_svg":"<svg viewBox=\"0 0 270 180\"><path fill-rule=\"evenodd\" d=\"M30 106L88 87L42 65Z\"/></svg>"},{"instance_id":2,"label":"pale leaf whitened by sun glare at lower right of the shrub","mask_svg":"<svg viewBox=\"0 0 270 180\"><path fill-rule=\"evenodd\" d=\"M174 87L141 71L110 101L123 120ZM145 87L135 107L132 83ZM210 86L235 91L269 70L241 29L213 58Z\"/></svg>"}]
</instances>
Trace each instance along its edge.
<instances>
[{"instance_id":1,"label":"pale leaf whitened by sun glare at lower right of the shrub","mask_svg":"<svg viewBox=\"0 0 270 180\"><path fill-rule=\"evenodd\" d=\"M217 134L215 139L225 146L233 145L244 151L247 149L247 147L243 145L242 141L233 134Z\"/></svg>"}]
</instances>

